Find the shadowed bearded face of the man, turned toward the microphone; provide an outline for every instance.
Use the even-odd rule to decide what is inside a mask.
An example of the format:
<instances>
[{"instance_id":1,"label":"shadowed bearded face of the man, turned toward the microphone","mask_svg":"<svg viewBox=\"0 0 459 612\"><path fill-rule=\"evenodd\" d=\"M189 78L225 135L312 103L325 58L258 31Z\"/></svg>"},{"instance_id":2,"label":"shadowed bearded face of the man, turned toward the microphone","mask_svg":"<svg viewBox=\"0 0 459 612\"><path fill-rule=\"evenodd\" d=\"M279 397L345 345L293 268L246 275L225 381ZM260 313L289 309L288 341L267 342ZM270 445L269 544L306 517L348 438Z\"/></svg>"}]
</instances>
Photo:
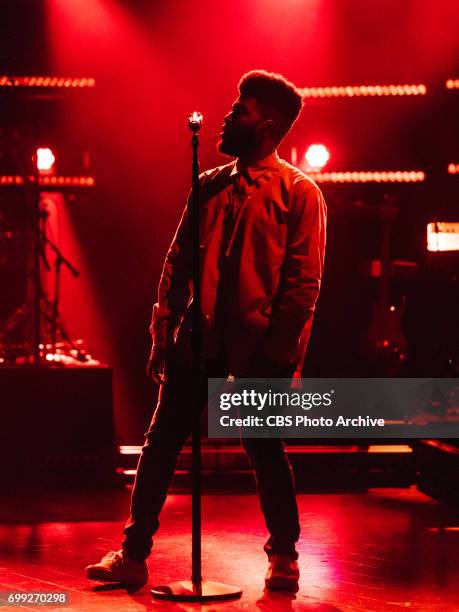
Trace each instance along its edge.
<instances>
[{"instance_id":1,"label":"shadowed bearded face of the man, turned toward the microphone","mask_svg":"<svg viewBox=\"0 0 459 612\"><path fill-rule=\"evenodd\" d=\"M262 116L255 98L238 98L225 116L218 150L225 155L243 157L257 148L264 138Z\"/></svg>"}]
</instances>

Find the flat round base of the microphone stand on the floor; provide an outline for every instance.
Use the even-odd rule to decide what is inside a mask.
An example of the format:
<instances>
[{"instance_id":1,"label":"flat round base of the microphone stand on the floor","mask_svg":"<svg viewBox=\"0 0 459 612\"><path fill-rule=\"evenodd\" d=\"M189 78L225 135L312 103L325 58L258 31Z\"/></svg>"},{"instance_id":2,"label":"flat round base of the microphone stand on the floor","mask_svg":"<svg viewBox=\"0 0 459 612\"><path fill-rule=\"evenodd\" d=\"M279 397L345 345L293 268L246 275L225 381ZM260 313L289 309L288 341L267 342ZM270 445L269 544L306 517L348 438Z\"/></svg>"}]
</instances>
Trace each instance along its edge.
<instances>
[{"instance_id":1,"label":"flat round base of the microphone stand on the floor","mask_svg":"<svg viewBox=\"0 0 459 612\"><path fill-rule=\"evenodd\" d=\"M211 601L234 599L242 595L242 589L231 584L203 580L199 588L191 580L171 582L164 586L151 589L151 594L157 599L171 599L175 601Z\"/></svg>"}]
</instances>

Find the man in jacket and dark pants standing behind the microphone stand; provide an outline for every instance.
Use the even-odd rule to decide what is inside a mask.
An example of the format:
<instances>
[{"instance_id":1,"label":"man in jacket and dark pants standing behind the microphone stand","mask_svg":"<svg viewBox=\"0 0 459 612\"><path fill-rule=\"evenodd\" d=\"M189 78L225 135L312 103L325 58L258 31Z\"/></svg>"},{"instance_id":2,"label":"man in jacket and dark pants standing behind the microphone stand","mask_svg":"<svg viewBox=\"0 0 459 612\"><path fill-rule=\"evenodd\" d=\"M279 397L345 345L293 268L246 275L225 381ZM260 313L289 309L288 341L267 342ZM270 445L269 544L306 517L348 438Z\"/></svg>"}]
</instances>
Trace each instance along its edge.
<instances>
[{"instance_id":1,"label":"man in jacket and dark pants standing behind the microphone stand","mask_svg":"<svg viewBox=\"0 0 459 612\"><path fill-rule=\"evenodd\" d=\"M208 377L299 377L323 269L326 207L318 187L276 148L302 108L282 76L252 71L224 119L219 150L237 160L200 176L200 410ZM139 459L122 550L87 568L94 580L145 582L145 559L193 420L192 241L189 202L167 253L153 307L147 371L161 384ZM191 405L190 405L191 404ZM300 525L279 439L243 439L270 537L266 587L296 590Z\"/></svg>"}]
</instances>

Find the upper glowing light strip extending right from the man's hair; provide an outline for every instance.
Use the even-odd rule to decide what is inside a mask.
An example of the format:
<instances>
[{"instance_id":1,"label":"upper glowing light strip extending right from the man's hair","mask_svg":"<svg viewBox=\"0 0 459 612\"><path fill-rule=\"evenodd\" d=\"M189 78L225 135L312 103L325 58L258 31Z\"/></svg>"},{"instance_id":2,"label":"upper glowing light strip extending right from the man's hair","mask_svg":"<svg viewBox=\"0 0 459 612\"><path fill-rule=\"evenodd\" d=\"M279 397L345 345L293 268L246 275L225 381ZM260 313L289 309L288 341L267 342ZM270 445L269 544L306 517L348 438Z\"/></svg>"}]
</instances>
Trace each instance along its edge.
<instances>
[{"instance_id":1,"label":"upper glowing light strip extending right from the man's hair","mask_svg":"<svg viewBox=\"0 0 459 612\"><path fill-rule=\"evenodd\" d=\"M359 96L425 96L423 83L413 85L346 85L338 87L303 87L303 98L353 98Z\"/></svg>"}]
</instances>

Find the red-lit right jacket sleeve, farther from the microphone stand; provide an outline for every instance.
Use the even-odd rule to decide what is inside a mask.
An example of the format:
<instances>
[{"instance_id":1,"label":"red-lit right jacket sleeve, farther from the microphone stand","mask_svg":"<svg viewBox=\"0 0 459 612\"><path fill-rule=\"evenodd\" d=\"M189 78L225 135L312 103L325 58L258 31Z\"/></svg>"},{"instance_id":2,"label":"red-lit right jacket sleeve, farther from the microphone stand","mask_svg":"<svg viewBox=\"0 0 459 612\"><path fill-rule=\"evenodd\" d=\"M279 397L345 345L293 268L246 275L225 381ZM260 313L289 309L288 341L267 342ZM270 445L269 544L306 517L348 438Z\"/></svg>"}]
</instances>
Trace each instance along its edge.
<instances>
[{"instance_id":1,"label":"red-lit right jacket sleeve, farther from the microphone stand","mask_svg":"<svg viewBox=\"0 0 459 612\"><path fill-rule=\"evenodd\" d=\"M259 353L280 363L294 361L305 325L312 319L322 279L327 209L320 189L300 178L292 186L287 245L279 291Z\"/></svg>"}]
</instances>

